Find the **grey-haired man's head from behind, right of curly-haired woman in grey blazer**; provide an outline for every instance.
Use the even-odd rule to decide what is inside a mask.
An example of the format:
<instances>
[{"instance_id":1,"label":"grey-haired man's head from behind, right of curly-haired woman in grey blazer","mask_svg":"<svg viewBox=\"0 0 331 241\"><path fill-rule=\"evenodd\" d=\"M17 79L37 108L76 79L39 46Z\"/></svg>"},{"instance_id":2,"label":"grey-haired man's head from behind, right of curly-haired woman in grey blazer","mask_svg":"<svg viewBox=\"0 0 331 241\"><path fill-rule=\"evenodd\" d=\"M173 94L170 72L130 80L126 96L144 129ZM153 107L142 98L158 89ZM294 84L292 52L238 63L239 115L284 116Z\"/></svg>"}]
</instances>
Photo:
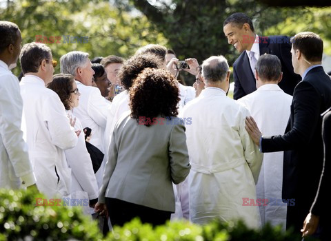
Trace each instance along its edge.
<instances>
[{"instance_id":1,"label":"grey-haired man's head from behind, right of curly-haired woman in grey blazer","mask_svg":"<svg viewBox=\"0 0 331 241\"><path fill-rule=\"evenodd\" d=\"M205 88L218 87L226 94L230 87L230 68L224 56L210 56L203 61L202 76Z\"/></svg>"}]
</instances>

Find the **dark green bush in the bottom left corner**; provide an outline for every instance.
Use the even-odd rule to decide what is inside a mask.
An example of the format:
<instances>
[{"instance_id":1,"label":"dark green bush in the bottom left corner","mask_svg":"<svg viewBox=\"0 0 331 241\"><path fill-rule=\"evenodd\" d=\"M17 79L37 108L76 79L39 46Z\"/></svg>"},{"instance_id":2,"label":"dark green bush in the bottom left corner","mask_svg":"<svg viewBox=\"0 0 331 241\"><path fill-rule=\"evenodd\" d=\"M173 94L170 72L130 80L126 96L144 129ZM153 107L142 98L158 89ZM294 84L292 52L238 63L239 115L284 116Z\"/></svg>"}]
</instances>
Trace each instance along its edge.
<instances>
[{"instance_id":1,"label":"dark green bush in the bottom left corner","mask_svg":"<svg viewBox=\"0 0 331 241\"><path fill-rule=\"evenodd\" d=\"M0 240L101 240L97 223L78 207L36 206L36 191L0 189Z\"/></svg>"}]
</instances>

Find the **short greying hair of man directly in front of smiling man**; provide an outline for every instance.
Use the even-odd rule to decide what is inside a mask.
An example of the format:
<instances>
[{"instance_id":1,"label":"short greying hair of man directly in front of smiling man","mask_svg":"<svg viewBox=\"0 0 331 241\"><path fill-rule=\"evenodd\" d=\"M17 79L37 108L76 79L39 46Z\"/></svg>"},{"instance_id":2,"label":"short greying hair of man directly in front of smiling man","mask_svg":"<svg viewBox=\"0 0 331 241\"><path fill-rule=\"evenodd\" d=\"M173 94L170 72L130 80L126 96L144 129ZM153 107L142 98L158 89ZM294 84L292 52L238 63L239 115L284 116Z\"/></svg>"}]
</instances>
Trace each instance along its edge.
<instances>
[{"instance_id":1,"label":"short greying hair of man directly in front of smiling man","mask_svg":"<svg viewBox=\"0 0 331 241\"><path fill-rule=\"evenodd\" d=\"M281 76L281 61L276 55L263 54L255 66L261 81L278 81Z\"/></svg>"}]
</instances>

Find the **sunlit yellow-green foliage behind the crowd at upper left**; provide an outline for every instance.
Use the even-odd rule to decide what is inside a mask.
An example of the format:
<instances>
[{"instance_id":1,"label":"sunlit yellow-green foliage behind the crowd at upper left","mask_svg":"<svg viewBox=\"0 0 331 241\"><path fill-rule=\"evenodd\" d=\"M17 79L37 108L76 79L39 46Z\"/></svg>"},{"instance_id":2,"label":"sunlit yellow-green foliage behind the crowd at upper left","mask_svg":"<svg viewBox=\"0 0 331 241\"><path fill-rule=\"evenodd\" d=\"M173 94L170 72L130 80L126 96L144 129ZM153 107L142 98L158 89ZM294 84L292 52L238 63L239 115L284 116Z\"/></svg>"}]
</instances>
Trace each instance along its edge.
<instances>
[{"instance_id":1,"label":"sunlit yellow-green foliage behind the crowd at upper left","mask_svg":"<svg viewBox=\"0 0 331 241\"><path fill-rule=\"evenodd\" d=\"M0 19L19 25L23 44L46 36L56 60L73 50L88 52L91 59L110 54L126 58L148 43L168 43L145 16L115 8L109 1L8 1L6 8L0 6ZM63 35L87 36L88 43L63 43ZM61 43L50 43L50 36L61 36ZM58 65L54 74L59 71ZM19 67L14 69L14 74L19 72Z\"/></svg>"}]
</instances>

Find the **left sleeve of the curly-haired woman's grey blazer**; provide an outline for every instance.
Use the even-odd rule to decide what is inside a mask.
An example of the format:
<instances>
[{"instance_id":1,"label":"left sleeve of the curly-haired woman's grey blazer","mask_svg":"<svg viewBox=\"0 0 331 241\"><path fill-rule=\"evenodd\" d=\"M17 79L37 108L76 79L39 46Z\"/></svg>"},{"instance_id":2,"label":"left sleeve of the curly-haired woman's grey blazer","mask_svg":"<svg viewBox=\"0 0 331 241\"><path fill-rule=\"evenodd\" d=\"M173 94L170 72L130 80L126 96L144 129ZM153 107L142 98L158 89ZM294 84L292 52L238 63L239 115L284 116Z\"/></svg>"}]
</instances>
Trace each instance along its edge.
<instances>
[{"instance_id":1,"label":"left sleeve of the curly-haired woman's grey blazer","mask_svg":"<svg viewBox=\"0 0 331 241\"><path fill-rule=\"evenodd\" d=\"M112 174L114 173L114 169L117 164L117 145L116 145L116 139L115 139L115 132L112 133L112 140L110 141L109 149L108 149L108 160L105 165L105 171L103 172L103 178L102 178L102 186L99 193L99 202L105 203L106 202L106 190L108 187L108 183L110 181L110 178L112 177Z\"/></svg>"}]
</instances>

